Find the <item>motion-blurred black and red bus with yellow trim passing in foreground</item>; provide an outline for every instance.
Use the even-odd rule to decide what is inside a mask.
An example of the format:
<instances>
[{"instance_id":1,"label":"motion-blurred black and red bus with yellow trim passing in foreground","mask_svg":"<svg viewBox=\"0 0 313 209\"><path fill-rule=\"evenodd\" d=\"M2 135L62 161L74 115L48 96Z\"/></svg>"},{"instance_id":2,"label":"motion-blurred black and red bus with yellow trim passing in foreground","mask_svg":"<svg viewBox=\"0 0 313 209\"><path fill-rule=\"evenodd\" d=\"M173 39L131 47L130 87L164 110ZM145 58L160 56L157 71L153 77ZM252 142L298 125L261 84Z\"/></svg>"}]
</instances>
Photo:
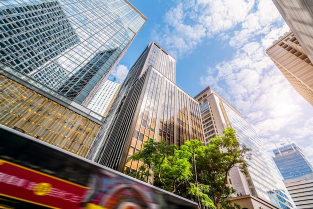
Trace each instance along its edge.
<instances>
[{"instance_id":1,"label":"motion-blurred black and red bus with yellow trim passing in foreground","mask_svg":"<svg viewBox=\"0 0 313 209\"><path fill-rule=\"evenodd\" d=\"M198 208L197 203L0 125L0 208Z\"/></svg>"}]
</instances>

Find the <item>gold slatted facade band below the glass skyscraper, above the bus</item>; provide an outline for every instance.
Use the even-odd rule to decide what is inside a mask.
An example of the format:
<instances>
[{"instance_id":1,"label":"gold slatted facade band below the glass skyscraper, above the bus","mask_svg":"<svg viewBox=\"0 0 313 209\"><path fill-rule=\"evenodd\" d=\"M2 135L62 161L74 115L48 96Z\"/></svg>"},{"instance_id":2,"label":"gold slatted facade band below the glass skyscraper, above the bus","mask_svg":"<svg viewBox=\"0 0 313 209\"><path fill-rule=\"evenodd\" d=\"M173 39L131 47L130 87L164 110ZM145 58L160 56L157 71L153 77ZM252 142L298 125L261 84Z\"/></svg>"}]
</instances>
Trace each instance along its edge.
<instances>
[{"instance_id":1,"label":"gold slatted facade band below the glass skyscraper, above the bus","mask_svg":"<svg viewBox=\"0 0 313 209\"><path fill-rule=\"evenodd\" d=\"M99 124L0 75L0 124L86 156Z\"/></svg>"}]
</instances>

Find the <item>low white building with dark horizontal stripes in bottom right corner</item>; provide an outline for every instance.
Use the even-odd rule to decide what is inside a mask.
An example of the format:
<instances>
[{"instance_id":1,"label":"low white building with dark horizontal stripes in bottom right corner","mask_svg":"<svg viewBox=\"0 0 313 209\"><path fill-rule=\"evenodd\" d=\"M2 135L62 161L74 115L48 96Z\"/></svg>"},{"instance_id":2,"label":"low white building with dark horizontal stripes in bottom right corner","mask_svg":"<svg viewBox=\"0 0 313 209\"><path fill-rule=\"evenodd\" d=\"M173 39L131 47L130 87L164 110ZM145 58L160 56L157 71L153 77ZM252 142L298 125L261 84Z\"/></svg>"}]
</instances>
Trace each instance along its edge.
<instances>
[{"instance_id":1,"label":"low white building with dark horizontal stripes in bottom right corner","mask_svg":"<svg viewBox=\"0 0 313 209\"><path fill-rule=\"evenodd\" d=\"M283 180L297 209L313 208L313 173Z\"/></svg>"}]
</instances>

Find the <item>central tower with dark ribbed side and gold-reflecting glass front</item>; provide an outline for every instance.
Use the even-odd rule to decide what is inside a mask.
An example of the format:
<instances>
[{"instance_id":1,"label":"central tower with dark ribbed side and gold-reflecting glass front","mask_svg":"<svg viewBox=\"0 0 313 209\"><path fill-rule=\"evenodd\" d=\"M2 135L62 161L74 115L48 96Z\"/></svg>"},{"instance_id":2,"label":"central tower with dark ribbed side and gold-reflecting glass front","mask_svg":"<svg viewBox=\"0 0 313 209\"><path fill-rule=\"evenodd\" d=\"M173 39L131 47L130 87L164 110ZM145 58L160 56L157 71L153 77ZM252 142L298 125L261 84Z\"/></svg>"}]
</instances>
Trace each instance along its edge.
<instances>
[{"instance_id":1,"label":"central tower with dark ribbed side and gold-reflecting glass front","mask_svg":"<svg viewBox=\"0 0 313 209\"><path fill-rule=\"evenodd\" d=\"M178 146L188 139L203 140L199 104L175 84L175 59L155 42L121 83L87 158L135 172L138 162L126 159L149 138Z\"/></svg>"}]
</instances>

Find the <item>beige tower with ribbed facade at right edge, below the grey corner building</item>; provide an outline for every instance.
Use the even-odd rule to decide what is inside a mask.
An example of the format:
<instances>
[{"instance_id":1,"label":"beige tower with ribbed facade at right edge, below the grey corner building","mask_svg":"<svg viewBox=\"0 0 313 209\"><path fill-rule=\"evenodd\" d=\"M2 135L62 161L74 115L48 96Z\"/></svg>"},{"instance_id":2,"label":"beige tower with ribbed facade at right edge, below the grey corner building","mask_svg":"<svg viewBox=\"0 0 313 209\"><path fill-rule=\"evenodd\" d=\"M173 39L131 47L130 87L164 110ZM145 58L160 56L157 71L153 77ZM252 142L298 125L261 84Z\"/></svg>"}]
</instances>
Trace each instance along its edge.
<instances>
[{"instance_id":1,"label":"beige tower with ribbed facade at right edge, below the grey corner building","mask_svg":"<svg viewBox=\"0 0 313 209\"><path fill-rule=\"evenodd\" d=\"M313 105L313 64L294 34L286 32L266 49L266 53L293 88Z\"/></svg>"}]
</instances>

